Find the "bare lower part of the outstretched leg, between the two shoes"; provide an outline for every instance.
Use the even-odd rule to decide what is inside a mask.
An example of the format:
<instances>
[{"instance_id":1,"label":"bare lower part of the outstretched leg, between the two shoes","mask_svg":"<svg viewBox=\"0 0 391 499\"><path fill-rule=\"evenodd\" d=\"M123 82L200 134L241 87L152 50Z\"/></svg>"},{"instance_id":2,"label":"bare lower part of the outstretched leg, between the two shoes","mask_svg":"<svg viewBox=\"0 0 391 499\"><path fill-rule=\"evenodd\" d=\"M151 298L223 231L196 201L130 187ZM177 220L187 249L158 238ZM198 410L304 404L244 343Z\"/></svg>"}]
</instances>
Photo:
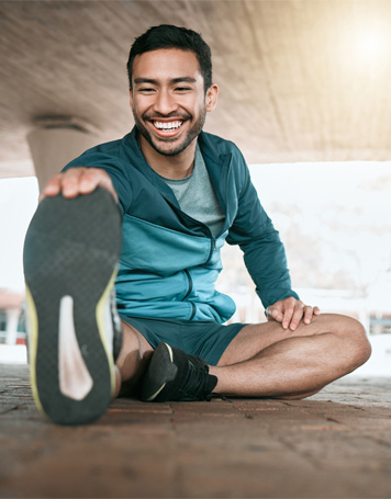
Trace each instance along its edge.
<instances>
[{"instance_id":1,"label":"bare lower part of the outstretched leg, between the two shoes","mask_svg":"<svg viewBox=\"0 0 391 499\"><path fill-rule=\"evenodd\" d=\"M135 392L153 352L153 348L143 334L124 321L122 321L122 349L116 360L114 398L132 395Z\"/></svg>"}]
</instances>

